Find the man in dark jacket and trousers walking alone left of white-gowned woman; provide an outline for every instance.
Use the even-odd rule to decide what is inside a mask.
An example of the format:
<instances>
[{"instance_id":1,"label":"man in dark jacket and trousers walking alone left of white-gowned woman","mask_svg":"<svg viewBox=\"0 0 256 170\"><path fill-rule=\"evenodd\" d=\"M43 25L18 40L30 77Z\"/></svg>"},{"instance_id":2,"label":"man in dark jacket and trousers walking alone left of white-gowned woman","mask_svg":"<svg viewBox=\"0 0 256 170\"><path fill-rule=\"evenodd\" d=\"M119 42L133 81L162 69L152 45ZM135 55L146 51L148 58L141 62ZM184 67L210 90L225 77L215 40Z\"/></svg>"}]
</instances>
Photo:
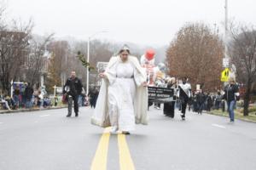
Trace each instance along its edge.
<instances>
[{"instance_id":1,"label":"man in dark jacket and trousers walking alone left of white-gowned woman","mask_svg":"<svg viewBox=\"0 0 256 170\"><path fill-rule=\"evenodd\" d=\"M67 78L67 81L63 87L63 94L67 95L68 99L68 113L67 117L72 114L72 103L74 105L75 116L79 116L79 94L82 92L83 85L78 77L76 77L76 72L71 71L71 77Z\"/></svg>"}]
</instances>

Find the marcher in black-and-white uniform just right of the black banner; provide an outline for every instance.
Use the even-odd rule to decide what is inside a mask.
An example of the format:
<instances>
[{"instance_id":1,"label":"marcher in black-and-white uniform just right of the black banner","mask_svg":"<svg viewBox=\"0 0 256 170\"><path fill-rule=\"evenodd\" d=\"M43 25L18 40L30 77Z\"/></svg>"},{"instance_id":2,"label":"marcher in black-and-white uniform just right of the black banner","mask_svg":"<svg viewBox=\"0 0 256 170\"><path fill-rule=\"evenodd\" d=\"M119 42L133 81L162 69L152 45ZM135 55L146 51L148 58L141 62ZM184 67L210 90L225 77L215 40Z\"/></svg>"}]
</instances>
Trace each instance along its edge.
<instances>
[{"instance_id":1,"label":"marcher in black-and-white uniform just right of the black banner","mask_svg":"<svg viewBox=\"0 0 256 170\"><path fill-rule=\"evenodd\" d=\"M189 98L191 97L191 85L187 82L187 77L183 77L182 83L178 85L177 97L181 101L181 117L184 121Z\"/></svg>"}]
</instances>

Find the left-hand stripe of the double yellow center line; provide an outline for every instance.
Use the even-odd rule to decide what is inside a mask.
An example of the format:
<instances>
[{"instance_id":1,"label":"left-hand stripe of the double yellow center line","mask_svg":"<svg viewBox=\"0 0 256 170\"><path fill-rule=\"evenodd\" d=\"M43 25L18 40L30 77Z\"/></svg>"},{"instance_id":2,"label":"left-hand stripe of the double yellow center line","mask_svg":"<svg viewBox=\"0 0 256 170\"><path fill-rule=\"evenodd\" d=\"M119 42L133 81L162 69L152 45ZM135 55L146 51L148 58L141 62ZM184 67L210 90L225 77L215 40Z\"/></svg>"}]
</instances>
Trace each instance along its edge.
<instances>
[{"instance_id":1,"label":"left-hand stripe of the double yellow center line","mask_svg":"<svg viewBox=\"0 0 256 170\"><path fill-rule=\"evenodd\" d=\"M92 161L90 170L106 170L108 160L108 143L110 138L110 127L105 128L102 138L98 144L96 155Z\"/></svg>"}]
</instances>

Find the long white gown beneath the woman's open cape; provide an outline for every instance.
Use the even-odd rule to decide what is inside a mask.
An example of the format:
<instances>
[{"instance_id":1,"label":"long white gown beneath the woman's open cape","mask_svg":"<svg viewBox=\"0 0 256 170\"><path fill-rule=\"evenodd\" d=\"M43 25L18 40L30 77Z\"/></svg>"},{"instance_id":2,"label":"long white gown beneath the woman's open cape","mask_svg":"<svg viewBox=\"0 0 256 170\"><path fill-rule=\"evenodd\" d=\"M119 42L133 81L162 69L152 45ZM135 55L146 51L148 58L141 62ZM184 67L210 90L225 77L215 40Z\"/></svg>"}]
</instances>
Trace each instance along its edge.
<instances>
[{"instance_id":1,"label":"long white gown beneath the woman's open cape","mask_svg":"<svg viewBox=\"0 0 256 170\"><path fill-rule=\"evenodd\" d=\"M108 86L108 112L110 123L120 131L135 129L134 95L136 85L134 82L135 68L130 62L118 62L115 65L116 79Z\"/></svg>"}]
</instances>

